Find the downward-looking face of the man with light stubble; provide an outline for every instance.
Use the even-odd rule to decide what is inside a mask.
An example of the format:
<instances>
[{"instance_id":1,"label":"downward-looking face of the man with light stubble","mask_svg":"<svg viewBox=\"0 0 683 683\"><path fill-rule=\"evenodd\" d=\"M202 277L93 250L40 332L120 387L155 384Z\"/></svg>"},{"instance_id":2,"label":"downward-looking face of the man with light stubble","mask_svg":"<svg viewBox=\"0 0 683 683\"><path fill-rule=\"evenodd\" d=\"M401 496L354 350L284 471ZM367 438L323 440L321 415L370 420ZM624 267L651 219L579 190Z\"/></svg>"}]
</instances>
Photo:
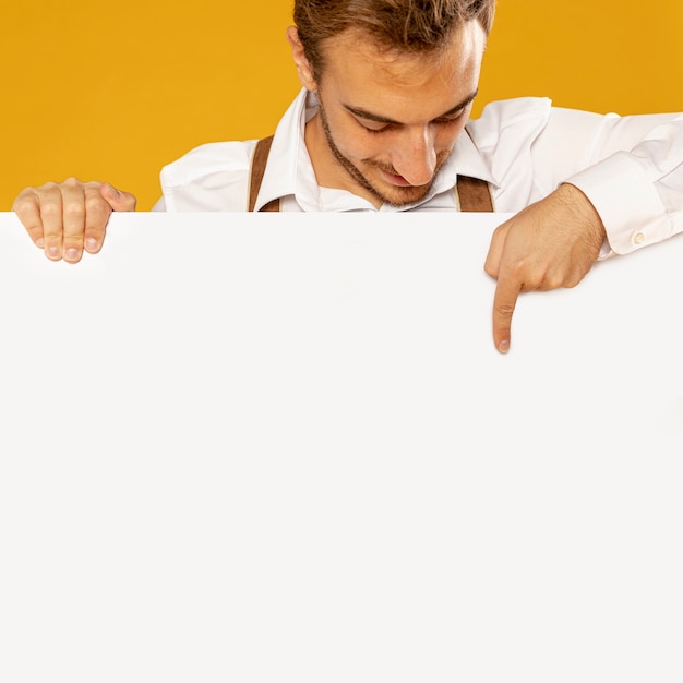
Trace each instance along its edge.
<instances>
[{"instance_id":1,"label":"downward-looking face of the man with light stubble","mask_svg":"<svg viewBox=\"0 0 683 683\"><path fill-rule=\"evenodd\" d=\"M382 52L351 32L328 40L307 127L319 184L375 206L424 197L468 120L484 44L478 22L429 56Z\"/></svg>"}]
</instances>

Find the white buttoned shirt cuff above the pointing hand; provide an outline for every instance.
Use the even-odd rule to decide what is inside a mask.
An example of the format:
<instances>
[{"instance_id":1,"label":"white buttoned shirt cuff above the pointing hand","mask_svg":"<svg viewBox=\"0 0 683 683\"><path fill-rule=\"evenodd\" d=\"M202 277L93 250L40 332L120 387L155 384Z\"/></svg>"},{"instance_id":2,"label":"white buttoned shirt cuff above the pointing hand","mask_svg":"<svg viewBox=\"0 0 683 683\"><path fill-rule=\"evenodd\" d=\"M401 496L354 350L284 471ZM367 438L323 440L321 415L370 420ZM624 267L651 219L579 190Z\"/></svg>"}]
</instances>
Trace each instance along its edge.
<instances>
[{"instance_id":1,"label":"white buttoned shirt cuff above the pointing hand","mask_svg":"<svg viewBox=\"0 0 683 683\"><path fill-rule=\"evenodd\" d=\"M568 178L592 203L612 252L627 254L669 237L664 207L642 160L619 152ZM603 250L601 257L609 255Z\"/></svg>"}]
</instances>

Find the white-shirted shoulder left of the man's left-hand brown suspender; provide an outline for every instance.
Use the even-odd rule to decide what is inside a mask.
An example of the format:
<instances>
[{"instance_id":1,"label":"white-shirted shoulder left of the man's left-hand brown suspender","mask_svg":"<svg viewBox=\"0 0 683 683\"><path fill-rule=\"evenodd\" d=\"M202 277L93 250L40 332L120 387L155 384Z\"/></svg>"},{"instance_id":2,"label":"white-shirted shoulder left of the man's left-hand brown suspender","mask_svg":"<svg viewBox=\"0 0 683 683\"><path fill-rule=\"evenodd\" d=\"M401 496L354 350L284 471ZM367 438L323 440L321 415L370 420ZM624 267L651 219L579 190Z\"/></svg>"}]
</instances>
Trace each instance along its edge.
<instances>
[{"instance_id":1,"label":"white-shirted shoulder left of the man's left-hand brown suspender","mask_svg":"<svg viewBox=\"0 0 683 683\"><path fill-rule=\"evenodd\" d=\"M166 211L243 211L255 140L204 144L161 169Z\"/></svg>"}]
</instances>

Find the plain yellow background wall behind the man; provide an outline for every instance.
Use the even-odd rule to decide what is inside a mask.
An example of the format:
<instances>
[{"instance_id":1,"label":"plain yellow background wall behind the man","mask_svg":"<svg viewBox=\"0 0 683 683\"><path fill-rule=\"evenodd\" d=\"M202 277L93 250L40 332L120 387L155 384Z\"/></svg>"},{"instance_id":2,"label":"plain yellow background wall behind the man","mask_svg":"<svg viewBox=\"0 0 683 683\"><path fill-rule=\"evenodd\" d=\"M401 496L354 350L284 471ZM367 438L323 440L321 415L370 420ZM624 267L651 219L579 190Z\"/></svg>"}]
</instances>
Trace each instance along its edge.
<instances>
[{"instance_id":1,"label":"plain yellow background wall behind the man","mask_svg":"<svg viewBox=\"0 0 683 683\"><path fill-rule=\"evenodd\" d=\"M683 2L500 0L475 116L522 95L683 110ZM291 0L0 0L0 211L27 184L107 180L148 211L190 148L271 133L298 92Z\"/></svg>"}]
</instances>

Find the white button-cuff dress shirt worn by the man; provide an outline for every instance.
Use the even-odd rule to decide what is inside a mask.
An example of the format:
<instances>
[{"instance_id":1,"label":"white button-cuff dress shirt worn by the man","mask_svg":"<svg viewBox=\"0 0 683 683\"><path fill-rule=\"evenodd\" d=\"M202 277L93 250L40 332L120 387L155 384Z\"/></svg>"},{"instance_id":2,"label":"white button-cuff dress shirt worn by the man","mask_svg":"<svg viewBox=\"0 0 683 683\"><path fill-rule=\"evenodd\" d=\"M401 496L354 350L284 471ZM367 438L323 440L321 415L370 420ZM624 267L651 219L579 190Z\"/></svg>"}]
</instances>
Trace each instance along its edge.
<instances>
[{"instance_id":1,"label":"white button-cuff dress shirt worn by the man","mask_svg":"<svg viewBox=\"0 0 683 683\"><path fill-rule=\"evenodd\" d=\"M379 209L347 192L319 187L303 131L317 110L301 91L275 131L256 209L457 211L457 176L487 180L496 212L516 213L560 183L579 188L604 223L602 255L628 253L683 230L683 115L619 117L552 107L547 98L494 101L467 124L429 195ZM154 211L247 211L256 141L205 144L161 170Z\"/></svg>"}]
</instances>

